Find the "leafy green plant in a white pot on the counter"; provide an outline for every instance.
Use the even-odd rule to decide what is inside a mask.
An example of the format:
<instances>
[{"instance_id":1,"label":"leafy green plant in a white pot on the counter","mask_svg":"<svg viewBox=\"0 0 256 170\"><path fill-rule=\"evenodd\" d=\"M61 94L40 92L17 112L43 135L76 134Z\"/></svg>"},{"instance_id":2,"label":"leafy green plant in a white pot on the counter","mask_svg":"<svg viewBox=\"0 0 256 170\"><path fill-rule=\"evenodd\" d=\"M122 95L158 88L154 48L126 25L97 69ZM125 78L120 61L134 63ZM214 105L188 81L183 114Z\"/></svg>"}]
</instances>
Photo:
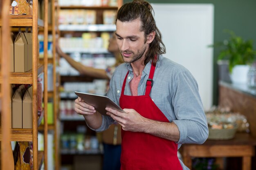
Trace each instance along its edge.
<instances>
[{"instance_id":1,"label":"leafy green plant in a white pot on the counter","mask_svg":"<svg viewBox=\"0 0 256 170\"><path fill-rule=\"evenodd\" d=\"M230 30L225 30L225 32L229 33L229 39L218 42L211 47L220 48L218 60L228 61L231 81L233 83L246 83L249 65L256 59L253 41L243 40Z\"/></svg>"}]
</instances>

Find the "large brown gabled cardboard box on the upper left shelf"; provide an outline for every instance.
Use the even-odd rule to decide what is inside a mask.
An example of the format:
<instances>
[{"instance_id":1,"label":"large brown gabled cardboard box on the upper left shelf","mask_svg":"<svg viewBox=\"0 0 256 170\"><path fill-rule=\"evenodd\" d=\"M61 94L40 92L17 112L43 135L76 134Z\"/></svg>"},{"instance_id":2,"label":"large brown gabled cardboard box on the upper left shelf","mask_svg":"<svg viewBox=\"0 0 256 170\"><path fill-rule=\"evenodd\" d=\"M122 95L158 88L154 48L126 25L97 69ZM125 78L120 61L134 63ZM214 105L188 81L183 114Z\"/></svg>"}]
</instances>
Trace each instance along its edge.
<instances>
[{"instance_id":1,"label":"large brown gabled cardboard box on the upper left shelf","mask_svg":"<svg viewBox=\"0 0 256 170\"><path fill-rule=\"evenodd\" d=\"M14 42L14 72L32 68L32 33L18 33Z\"/></svg>"}]
</instances>

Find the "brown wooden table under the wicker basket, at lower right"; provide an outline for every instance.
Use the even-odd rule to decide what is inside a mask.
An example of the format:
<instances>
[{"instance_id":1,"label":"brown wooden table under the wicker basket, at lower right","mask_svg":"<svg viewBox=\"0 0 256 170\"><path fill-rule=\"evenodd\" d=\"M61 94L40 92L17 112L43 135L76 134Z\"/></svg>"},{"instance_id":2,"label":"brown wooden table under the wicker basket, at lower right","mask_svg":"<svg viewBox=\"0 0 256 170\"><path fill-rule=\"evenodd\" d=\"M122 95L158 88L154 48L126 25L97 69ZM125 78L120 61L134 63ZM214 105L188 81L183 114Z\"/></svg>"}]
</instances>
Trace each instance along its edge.
<instances>
[{"instance_id":1,"label":"brown wooden table under the wicker basket, at lower right","mask_svg":"<svg viewBox=\"0 0 256 170\"><path fill-rule=\"evenodd\" d=\"M237 133L230 140L207 140L202 145L183 144L180 153L184 164L192 169L192 157L216 157L223 169L223 157L242 157L242 170L251 170L251 158L255 154L256 137Z\"/></svg>"}]
</instances>

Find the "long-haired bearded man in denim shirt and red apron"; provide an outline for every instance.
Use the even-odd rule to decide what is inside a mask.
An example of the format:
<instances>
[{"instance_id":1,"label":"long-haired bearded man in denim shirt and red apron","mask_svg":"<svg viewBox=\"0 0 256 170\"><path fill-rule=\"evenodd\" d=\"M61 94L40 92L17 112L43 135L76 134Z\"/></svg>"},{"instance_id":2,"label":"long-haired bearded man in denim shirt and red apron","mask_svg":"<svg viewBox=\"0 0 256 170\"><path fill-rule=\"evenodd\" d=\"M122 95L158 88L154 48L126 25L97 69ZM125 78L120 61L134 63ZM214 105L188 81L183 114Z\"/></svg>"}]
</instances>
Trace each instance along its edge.
<instances>
[{"instance_id":1,"label":"long-haired bearded man in denim shirt and red apron","mask_svg":"<svg viewBox=\"0 0 256 170\"><path fill-rule=\"evenodd\" d=\"M124 64L116 68L107 96L126 112L106 108L102 116L80 98L75 110L101 131L122 126L121 170L185 170L177 158L184 143L202 144L207 120L198 85L183 66L163 57L165 47L151 5L143 0L117 12L117 44Z\"/></svg>"}]
</instances>

